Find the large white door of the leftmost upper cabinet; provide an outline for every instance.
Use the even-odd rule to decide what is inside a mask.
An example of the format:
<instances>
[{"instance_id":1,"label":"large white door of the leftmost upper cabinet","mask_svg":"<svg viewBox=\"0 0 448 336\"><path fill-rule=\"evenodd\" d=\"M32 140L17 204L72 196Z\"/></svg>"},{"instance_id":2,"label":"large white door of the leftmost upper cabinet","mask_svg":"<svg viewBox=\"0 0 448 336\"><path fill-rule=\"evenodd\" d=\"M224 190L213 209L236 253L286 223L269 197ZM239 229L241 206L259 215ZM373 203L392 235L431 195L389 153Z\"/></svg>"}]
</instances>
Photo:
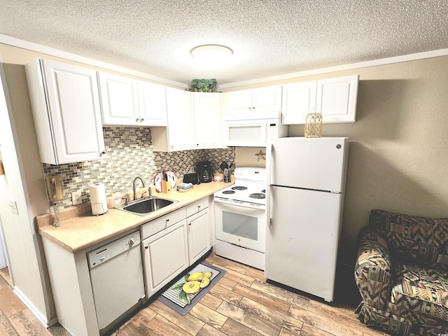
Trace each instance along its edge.
<instances>
[{"instance_id":1,"label":"large white door of the leftmost upper cabinet","mask_svg":"<svg viewBox=\"0 0 448 336\"><path fill-rule=\"evenodd\" d=\"M60 165L99 159L104 153L104 138L96 71L48 60L41 60L41 66L48 111L33 106L33 112L42 112L35 118L46 118L47 122L50 118L53 144L39 146L54 146L55 155L42 158L43 162ZM41 151L48 152L48 148Z\"/></svg>"}]
</instances>

